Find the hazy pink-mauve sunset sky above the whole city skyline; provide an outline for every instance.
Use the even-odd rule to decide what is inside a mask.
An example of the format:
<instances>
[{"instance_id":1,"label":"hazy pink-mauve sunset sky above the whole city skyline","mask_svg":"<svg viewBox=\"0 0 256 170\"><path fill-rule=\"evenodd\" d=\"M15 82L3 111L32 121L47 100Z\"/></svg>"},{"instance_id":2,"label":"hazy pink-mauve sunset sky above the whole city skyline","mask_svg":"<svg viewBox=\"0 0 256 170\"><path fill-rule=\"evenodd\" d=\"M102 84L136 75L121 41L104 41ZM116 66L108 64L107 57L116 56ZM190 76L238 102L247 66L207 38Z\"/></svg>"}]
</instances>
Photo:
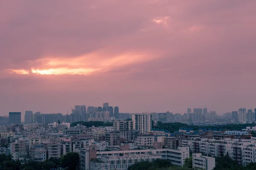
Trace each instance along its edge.
<instances>
[{"instance_id":1,"label":"hazy pink-mauve sunset sky above the whole city skyline","mask_svg":"<svg viewBox=\"0 0 256 170\"><path fill-rule=\"evenodd\" d=\"M0 115L256 108L255 0L2 0Z\"/></svg>"}]
</instances>

